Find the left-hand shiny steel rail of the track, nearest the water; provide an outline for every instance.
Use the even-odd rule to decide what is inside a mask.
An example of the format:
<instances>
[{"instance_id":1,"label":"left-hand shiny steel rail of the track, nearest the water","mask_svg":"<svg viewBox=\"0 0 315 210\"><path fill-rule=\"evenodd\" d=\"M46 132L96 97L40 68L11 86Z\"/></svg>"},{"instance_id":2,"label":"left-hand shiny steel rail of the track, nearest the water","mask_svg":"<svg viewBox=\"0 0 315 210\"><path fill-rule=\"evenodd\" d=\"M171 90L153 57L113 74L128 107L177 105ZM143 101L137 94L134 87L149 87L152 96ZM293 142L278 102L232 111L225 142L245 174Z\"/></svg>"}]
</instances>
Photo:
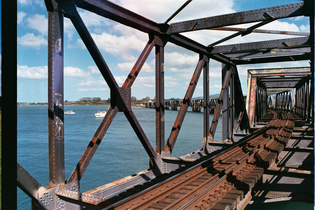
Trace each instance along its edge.
<instances>
[{"instance_id":1,"label":"left-hand shiny steel rail of the track, nearest the water","mask_svg":"<svg viewBox=\"0 0 315 210\"><path fill-rule=\"evenodd\" d=\"M278 117L278 118L279 118L279 117ZM226 150L226 151L223 151L223 152L221 152L221 153L219 153L219 154L213 156L211 159L204 160L203 162L199 163L198 165L196 165L196 166L194 166L194 167L192 167L192 168L186 169L185 171L183 171L183 172L181 172L181 173L179 173L179 174L177 174L177 175L175 175L175 176L173 176L173 177L171 177L171 178L168 178L168 179L164 180L163 182L161 182L161 183L159 183L159 184L155 184L155 185L153 185L153 186L147 188L146 190L142 190L141 192L138 192L138 193L136 193L135 195L132 195L132 196L130 196L130 197L128 197L128 198L125 198L125 199L123 199L123 200L121 200L121 201L118 201L117 203L114 203L114 204L112 204L112 205L110 205L110 206L108 206L108 207L106 207L106 208L104 208L104 209L112 209L112 208L115 208L115 207L118 207L118 206L121 207L121 205L123 205L124 203L127 203L128 201L131 201L132 199L135 199L136 197L139 197L140 195L144 195L146 192L149 192L150 190L153 190L153 189L155 189L155 188L157 188L157 187L160 187L160 186L162 186L163 184L165 184L165 183L167 183L167 182L169 182L169 181L171 181L171 180L174 180L175 178L178 178L178 177L180 177L181 175L183 175L183 174L185 174L185 173L187 173L187 172L190 172L190 171L192 171L192 170L195 170L196 168L200 167L202 164L206 164L207 161L208 161L208 163L209 163L210 161L212 161L212 164L210 164L210 166L214 166L215 164L217 164L216 162L219 162L219 161L213 162L213 160L214 160L215 158L219 157L220 155L222 155L222 154L224 154L224 153L227 153L228 151L231 151L232 149L235 149L236 147L240 146L242 143L244 143L245 141L247 141L249 138L255 138L255 139L257 139L257 137L262 136L262 135L265 133L266 129L268 129L268 128L270 129L271 126L273 126L273 125L277 122L277 120L278 120L278 119L272 120L270 123L268 123L269 125L267 125L267 126L266 126L265 128L263 128L263 129L261 129L260 132L256 132L256 133L254 133L253 135L250 135L249 137L245 138L242 142L236 144L235 146L233 146L232 148L230 148L230 149L228 149L228 150ZM226 158L228 158L228 157L226 157ZM232 165L233 165L233 164L232 164ZM234 164L234 165L235 165L235 164ZM208 167L209 167L209 166L208 166ZM229 168L230 168L230 167L229 167ZM205 170L206 170L206 169L205 169ZM201 175L200 175L200 176L201 176ZM199 177L200 177L200 176L199 176ZM187 180L186 180L186 181L187 181ZM172 190L172 191L173 191L173 190ZM164 197L165 197L165 196L164 196ZM146 201L146 202L148 202L148 201ZM133 207L135 207L135 206L133 206Z\"/></svg>"}]
</instances>

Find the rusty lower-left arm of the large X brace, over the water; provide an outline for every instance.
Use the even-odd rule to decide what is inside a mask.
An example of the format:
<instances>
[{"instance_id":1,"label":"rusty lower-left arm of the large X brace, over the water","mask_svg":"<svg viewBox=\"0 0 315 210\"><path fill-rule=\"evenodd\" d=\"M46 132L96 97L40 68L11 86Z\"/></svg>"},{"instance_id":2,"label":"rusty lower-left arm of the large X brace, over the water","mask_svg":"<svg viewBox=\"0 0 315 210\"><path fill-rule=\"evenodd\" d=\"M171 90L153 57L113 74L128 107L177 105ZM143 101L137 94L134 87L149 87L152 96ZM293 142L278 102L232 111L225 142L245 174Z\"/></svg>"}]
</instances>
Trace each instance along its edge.
<instances>
[{"instance_id":1,"label":"rusty lower-left arm of the large X brace, over the water","mask_svg":"<svg viewBox=\"0 0 315 210\"><path fill-rule=\"evenodd\" d=\"M79 162L77 163L77 166L70 175L70 178L68 179L67 183L80 181L80 179L83 176L83 173L88 167L93 155L95 154L96 149L100 145L108 127L111 125L112 120L114 119L117 112L118 112L117 107L114 108L109 107L104 119L97 128L92 140L90 141L88 147L85 149L82 157L80 158Z\"/></svg>"}]
</instances>

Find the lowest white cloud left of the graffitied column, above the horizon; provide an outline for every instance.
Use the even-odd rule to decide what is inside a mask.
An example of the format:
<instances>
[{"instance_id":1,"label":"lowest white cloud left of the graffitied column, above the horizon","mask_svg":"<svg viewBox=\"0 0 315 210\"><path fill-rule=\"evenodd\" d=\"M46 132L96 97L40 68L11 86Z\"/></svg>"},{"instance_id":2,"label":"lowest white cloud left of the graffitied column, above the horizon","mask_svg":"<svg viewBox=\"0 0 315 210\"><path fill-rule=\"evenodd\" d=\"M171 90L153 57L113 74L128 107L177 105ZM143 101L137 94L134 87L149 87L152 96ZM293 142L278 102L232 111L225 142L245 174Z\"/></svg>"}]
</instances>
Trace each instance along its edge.
<instances>
[{"instance_id":1,"label":"lowest white cloud left of the graffitied column, above the horizon","mask_svg":"<svg viewBox=\"0 0 315 210\"><path fill-rule=\"evenodd\" d=\"M46 79L48 66L28 67L17 66L17 77L22 79Z\"/></svg>"}]
</instances>

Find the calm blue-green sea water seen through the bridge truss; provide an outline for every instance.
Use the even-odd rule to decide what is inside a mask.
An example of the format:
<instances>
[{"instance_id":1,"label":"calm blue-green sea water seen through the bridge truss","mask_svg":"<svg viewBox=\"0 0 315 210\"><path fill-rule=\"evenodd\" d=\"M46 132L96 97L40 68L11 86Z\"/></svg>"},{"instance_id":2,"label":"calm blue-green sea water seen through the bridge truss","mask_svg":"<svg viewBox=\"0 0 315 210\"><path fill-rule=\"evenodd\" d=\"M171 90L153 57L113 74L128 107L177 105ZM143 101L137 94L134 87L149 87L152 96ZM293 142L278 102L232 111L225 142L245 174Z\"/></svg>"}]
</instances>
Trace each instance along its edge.
<instances>
[{"instance_id":1,"label":"calm blue-green sea water seen through the bridge truss","mask_svg":"<svg viewBox=\"0 0 315 210\"><path fill-rule=\"evenodd\" d=\"M66 106L65 111L65 173L68 179L84 153L102 118L94 113L106 111L108 106ZM155 148L155 109L132 108L142 129ZM49 184L48 172L48 107L17 107L17 161L40 184ZM178 111L165 110L165 139L174 124ZM210 114L210 120L213 114ZM221 141L219 121L215 141ZM166 143L165 140L165 143ZM203 110L192 112L188 108L173 157L180 157L201 149L203 140ZM81 181L80 190L85 192L120 178L146 170L149 158L138 137L123 113L117 113L105 137L100 143ZM31 209L31 199L17 189L17 208Z\"/></svg>"}]
</instances>

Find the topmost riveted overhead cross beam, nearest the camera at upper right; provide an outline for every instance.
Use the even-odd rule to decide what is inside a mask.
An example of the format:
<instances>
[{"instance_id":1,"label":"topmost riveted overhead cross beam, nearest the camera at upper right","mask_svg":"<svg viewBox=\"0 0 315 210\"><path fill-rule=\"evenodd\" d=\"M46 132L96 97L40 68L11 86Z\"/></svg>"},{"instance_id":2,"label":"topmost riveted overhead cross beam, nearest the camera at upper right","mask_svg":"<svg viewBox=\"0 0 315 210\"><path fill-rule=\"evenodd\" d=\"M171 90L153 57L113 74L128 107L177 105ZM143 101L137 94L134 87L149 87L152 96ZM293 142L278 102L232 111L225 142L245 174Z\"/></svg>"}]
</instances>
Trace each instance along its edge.
<instances>
[{"instance_id":1,"label":"topmost riveted overhead cross beam, nearest the camera at upper right","mask_svg":"<svg viewBox=\"0 0 315 210\"><path fill-rule=\"evenodd\" d=\"M307 6L304 6L303 2L293 3L172 23L166 33L189 32L303 15L308 16Z\"/></svg>"}]
</instances>

